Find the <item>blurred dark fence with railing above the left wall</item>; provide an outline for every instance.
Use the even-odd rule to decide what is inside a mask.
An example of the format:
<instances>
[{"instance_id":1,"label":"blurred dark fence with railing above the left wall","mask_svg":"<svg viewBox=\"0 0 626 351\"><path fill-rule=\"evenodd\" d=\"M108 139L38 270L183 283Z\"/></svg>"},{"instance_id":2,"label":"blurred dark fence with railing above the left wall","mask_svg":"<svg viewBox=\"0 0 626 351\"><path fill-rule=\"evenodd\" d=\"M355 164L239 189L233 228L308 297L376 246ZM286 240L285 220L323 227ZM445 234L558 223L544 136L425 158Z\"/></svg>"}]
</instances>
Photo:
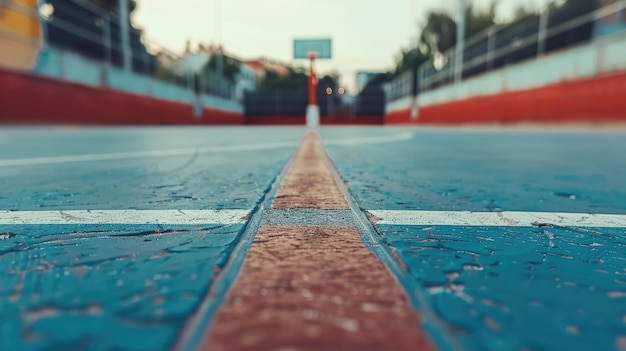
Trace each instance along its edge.
<instances>
[{"instance_id":1,"label":"blurred dark fence with railing above the left wall","mask_svg":"<svg viewBox=\"0 0 626 351\"><path fill-rule=\"evenodd\" d=\"M10 0L2 5L31 18L38 18L42 26L43 48L74 52L96 60L107 70L123 67L125 49L122 28L116 15L85 2L74 0L38 0L39 11L34 11ZM217 72L203 70L189 72L178 64L183 58L149 40L140 31L130 28L131 71L148 76L195 93L231 98L233 85ZM33 40L19 33L0 31L0 37L14 41ZM106 81L102 82L106 84Z\"/></svg>"}]
</instances>

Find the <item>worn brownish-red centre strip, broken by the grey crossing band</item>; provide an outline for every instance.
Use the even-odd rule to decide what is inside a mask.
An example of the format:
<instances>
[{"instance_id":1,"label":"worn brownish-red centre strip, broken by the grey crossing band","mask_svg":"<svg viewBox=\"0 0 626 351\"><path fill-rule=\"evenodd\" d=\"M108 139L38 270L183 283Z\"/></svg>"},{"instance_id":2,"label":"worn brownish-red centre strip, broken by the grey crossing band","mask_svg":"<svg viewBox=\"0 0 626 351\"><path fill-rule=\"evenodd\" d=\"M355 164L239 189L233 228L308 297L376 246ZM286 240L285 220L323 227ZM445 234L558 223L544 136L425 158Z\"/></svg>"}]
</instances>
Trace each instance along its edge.
<instances>
[{"instance_id":1,"label":"worn brownish-red centre strip, broken by the grey crossing band","mask_svg":"<svg viewBox=\"0 0 626 351\"><path fill-rule=\"evenodd\" d=\"M348 209L319 136L273 208ZM421 318L353 225L263 225L201 350L433 350Z\"/></svg>"}]
</instances>

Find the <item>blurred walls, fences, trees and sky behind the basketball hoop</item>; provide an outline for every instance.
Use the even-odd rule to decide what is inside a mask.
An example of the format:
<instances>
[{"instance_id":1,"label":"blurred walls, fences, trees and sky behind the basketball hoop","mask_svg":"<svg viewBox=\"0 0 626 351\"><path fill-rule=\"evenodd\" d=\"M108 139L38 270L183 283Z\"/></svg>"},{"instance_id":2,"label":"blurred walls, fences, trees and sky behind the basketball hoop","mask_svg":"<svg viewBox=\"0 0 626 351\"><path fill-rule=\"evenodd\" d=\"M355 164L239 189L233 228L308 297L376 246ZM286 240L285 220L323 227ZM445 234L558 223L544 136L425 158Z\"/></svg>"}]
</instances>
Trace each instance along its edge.
<instances>
[{"instance_id":1,"label":"blurred walls, fences, trees and sky behind the basketball hoop","mask_svg":"<svg viewBox=\"0 0 626 351\"><path fill-rule=\"evenodd\" d=\"M626 1L0 0L0 122L626 121ZM231 49L232 48L232 49Z\"/></svg>"}]
</instances>

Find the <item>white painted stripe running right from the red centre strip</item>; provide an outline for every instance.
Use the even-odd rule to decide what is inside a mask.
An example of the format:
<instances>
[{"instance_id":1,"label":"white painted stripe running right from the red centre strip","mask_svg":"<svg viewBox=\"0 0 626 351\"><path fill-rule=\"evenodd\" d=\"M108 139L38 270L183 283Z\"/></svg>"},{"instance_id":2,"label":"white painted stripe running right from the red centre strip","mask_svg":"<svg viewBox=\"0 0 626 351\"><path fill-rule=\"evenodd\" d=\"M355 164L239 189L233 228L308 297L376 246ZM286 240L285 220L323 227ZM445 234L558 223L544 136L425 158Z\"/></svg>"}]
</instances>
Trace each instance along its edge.
<instances>
[{"instance_id":1,"label":"white painted stripe running right from the red centre strip","mask_svg":"<svg viewBox=\"0 0 626 351\"><path fill-rule=\"evenodd\" d=\"M626 228L626 215L556 212L368 211L376 224L530 227Z\"/></svg>"}]
</instances>

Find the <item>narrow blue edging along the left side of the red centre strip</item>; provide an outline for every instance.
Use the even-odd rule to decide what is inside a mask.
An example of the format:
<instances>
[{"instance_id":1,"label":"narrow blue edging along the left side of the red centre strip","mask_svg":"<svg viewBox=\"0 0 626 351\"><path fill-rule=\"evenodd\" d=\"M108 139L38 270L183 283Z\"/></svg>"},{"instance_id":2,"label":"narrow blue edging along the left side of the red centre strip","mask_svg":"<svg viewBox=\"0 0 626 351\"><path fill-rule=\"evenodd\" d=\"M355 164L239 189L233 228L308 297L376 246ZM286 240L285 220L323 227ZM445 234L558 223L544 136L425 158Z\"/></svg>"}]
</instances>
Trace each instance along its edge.
<instances>
[{"instance_id":1,"label":"narrow blue edging along the left side of the red centre strip","mask_svg":"<svg viewBox=\"0 0 626 351\"><path fill-rule=\"evenodd\" d=\"M303 138L304 139L304 138ZM293 166L298 150L292 152L291 156L278 175L272 180L261 198L257 201L257 205L249 214L249 219L241 231L240 237L237 239L235 248L231 251L228 261L224 268L217 275L213 284L209 286L200 303L194 312L186 319L182 329L177 335L171 350L173 351L195 351L200 346L206 330L214 322L214 317L219 308L226 301L228 291L233 286L237 277L241 273L244 261L248 256L250 247L254 242L259 228L263 220L263 213L266 209L271 208L272 201L278 192L280 184L283 182L289 170Z\"/></svg>"}]
</instances>

